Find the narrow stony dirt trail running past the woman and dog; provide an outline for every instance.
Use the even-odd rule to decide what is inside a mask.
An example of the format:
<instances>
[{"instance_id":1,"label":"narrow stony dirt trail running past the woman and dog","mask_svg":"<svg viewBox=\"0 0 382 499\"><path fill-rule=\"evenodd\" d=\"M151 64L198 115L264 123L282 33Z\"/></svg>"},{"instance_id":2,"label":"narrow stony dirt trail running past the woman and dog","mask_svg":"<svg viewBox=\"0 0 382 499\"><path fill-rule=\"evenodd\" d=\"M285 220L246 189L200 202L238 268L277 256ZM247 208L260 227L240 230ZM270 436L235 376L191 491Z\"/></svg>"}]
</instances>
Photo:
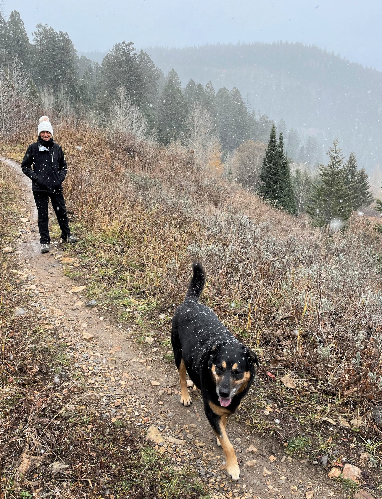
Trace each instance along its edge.
<instances>
[{"instance_id":1,"label":"narrow stony dirt trail running past the woman and dog","mask_svg":"<svg viewBox=\"0 0 382 499\"><path fill-rule=\"evenodd\" d=\"M52 244L50 253L39 252L37 213L30 180L21 173L17 163L2 160L14 169L19 180L24 194L21 201L25 207L24 217L28 219L28 222L20 220L20 236L14 245L28 300L25 313L36 320L43 318L44 327L58 342L67 344L67 355L72 362L65 368L66 373L63 372L63 381L71 371L82 371L89 390L99 398L103 417L127 421L142 432L155 425L164 440L164 444L155 447L157 451L168 453L174 467L192 465L208 484L212 497L349 497L349 492L338 482L328 479L329 470L305 460L292 460L273 441L251 433L240 412L231 418L227 427L241 469L240 481L232 482L199 396L192 393L190 408L180 405L175 365L163 362L168 346L161 346L155 339L150 345L134 342L130 336L131 330L136 330L135 325L119 324L103 307L86 306L88 299L81 292L70 293L78 283L63 275L60 245ZM163 328L169 327L165 322ZM250 445L257 449L256 453L246 451ZM270 456L275 459L270 461ZM252 466L246 465L251 461Z\"/></svg>"}]
</instances>

